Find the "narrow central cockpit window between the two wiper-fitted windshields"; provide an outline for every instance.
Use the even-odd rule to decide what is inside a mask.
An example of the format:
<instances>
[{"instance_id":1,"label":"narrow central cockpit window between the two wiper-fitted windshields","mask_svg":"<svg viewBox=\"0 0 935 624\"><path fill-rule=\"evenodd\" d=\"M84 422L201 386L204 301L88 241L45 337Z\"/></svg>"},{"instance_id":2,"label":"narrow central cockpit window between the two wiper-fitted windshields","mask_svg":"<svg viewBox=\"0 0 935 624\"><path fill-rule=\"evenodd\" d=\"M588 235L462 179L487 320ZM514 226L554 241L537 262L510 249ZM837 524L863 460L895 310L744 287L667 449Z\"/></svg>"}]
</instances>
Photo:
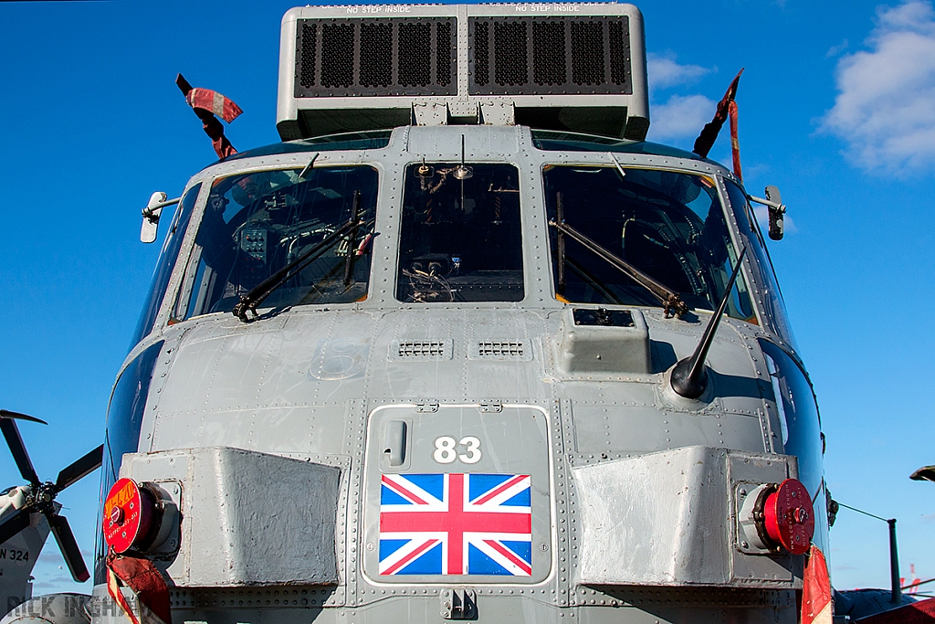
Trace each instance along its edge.
<instances>
[{"instance_id":1,"label":"narrow central cockpit window between the two wiper-fitted windshields","mask_svg":"<svg viewBox=\"0 0 935 624\"><path fill-rule=\"evenodd\" d=\"M522 300L521 229L516 167L410 165L396 298L412 303Z\"/></svg>"}]
</instances>

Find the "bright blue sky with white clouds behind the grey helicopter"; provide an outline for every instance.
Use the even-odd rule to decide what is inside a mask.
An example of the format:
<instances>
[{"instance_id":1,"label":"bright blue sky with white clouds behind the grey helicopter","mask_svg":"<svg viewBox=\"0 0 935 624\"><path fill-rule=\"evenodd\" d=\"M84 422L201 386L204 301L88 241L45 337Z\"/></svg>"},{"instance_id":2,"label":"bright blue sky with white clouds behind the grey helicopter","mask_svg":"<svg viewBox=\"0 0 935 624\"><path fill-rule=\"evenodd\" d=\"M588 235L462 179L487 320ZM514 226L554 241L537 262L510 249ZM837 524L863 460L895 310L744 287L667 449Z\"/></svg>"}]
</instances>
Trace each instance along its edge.
<instances>
[{"instance_id":1,"label":"bright blue sky with white clouds behind the grey helicopter","mask_svg":"<svg viewBox=\"0 0 935 624\"><path fill-rule=\"evenodd\" d=\"M174 85L230 96L238 149L275 142L279 26L290 3L0 3L0 407L40 476L100 443L113 378L157 245L138 241L152 191L178 196L214 160ZM935 11L928 0L712 0L638 5L650 138L691 148L741 66L744 180L783 191L770 253L827 433L842 502L899 519L902 573L935 576ZM722 137L712 157L729 162ZM791 222L791 224L790 224ZM927 389L928 388L928 389ZM0 486L20 482L0 449ZM90 554L96 474L59 497ZM885 523L841 510L838 588L888 586ZM55 544L36 593L80 590ZM83 588L87 591L90 588Z\"/></svg>"}]
</instances>

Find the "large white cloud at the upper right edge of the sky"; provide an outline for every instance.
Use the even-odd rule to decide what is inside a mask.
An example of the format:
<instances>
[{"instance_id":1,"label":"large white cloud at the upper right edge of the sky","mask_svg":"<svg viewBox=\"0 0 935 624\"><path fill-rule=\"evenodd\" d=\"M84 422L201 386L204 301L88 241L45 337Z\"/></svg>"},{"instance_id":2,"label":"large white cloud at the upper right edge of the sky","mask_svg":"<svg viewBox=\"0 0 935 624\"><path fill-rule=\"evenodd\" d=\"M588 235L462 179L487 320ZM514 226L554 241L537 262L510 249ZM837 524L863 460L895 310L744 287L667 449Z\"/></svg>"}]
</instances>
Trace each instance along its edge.
<instances>
[{"instance_id":1,"label":"large white cloud at the upper right edge of the sky","mask_svg":"<svg viewBox=\"0 0 935 624\"><path fill-rule=\"evenodd\" d=\"M870 51L838 62L839 94L821 130L847 143L858 167L905 174L935 168L935 10L881 7Z\"/></svg>"}]
</instances>

